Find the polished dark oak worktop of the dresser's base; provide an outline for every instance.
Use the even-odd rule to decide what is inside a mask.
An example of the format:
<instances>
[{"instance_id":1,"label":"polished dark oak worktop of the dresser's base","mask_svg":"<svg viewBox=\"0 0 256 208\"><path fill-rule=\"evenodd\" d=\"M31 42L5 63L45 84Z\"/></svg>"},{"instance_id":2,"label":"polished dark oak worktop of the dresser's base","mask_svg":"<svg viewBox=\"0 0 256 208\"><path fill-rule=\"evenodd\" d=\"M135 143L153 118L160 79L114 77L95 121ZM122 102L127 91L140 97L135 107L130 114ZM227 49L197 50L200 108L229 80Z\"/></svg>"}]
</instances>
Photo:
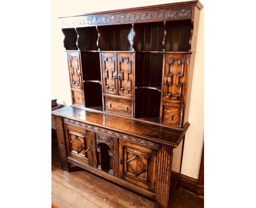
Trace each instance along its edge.
<instances>
[{"instance_id":1,"label":"polished dark oak worktop of the dresser's base","mask_svg":"<svg viewBox=\"0 0 256 208\"><path fill-rule=\"evenodd\" d=\"M168 129L167 127L142 123L141 121L115 115L87 111L72 106L57 109L52 114L135 137L146 138L174 148L177 147L185 133L185 130Z\"/></svg>"}]
</instances>

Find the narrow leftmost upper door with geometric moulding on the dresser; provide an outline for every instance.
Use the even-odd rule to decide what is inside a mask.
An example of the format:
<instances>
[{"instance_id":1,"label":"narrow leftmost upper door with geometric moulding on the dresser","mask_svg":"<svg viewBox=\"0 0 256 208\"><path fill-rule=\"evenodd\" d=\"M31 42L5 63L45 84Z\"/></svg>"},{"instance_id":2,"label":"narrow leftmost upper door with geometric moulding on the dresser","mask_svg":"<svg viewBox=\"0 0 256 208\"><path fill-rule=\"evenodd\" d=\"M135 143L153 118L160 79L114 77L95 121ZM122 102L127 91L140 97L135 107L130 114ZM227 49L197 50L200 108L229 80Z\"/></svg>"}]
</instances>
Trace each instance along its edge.
<instances>
[{"instance_id":1,"label":"narrow leftmost upper door with geometric moulding on the dresser","mask_svg":"<svg viewBox=\"0 0 256 208\"><path fill-rule=\"evenodd\" d=\"M79 52L67 52L71 88L83 89Z\"/></svg>"}]
</instances>

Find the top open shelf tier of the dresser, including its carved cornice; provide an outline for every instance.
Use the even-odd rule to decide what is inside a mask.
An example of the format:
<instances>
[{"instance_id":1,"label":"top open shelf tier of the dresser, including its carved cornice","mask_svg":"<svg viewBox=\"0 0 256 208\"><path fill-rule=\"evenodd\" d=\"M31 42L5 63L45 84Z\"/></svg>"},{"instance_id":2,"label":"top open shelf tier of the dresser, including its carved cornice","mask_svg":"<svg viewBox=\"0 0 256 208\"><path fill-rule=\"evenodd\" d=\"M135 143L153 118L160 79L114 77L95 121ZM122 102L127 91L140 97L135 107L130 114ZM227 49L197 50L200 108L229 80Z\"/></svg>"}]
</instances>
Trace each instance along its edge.
<instances>
[{"instance_id":1,"label":"top open shelf tier of the dresser, including its carved cornice","mask_svg":"<svg viewBox=\"0 0 256 208\"><path fill-rule=\"evenodd\" d=\"M199 1L60 17L66 50L89 52L195 51L193 20Z\"/></svg>"}]
</instances>

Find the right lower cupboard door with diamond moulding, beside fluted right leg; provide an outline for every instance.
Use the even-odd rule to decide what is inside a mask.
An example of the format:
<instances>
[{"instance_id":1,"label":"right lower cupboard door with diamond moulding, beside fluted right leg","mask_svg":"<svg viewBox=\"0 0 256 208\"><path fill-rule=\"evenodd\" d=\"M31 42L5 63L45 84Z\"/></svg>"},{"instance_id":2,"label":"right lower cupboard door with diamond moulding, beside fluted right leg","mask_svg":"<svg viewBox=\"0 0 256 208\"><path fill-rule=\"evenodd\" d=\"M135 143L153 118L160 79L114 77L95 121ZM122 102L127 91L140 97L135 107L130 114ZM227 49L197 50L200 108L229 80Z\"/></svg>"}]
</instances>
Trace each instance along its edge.
<instances>
[{"instance_id":1,"label":"right lower cupboard door with diamond moulding, beside fluted right leg","mask_svg":"<svg viewBox=\"0 0 256 208\"><path fill-rule=\"evenodd\" d=\"M154 192L156 152L119 140L119 178Z\"/></svg>"}]
</instances>

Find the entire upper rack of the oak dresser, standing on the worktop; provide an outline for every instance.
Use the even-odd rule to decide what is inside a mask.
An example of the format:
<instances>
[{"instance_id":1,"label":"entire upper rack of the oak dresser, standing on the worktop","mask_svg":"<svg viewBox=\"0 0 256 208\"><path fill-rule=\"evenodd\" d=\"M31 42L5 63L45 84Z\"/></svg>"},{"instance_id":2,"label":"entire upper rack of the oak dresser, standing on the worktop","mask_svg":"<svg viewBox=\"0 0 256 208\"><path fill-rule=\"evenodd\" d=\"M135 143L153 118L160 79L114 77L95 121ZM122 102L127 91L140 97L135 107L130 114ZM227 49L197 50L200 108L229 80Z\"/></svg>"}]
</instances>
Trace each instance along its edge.
<instances>
[{"instance_id":1,"label":"entire upper rack of the oak dresser, standing on the worktop","mask_svg":"<svg viewBox=\"0 0 256 208\"><path fill-rule=\"evenodd\" d=\"M199 1L61 17L72 106L188 126Z\"/></svg>"}]
</instances>

